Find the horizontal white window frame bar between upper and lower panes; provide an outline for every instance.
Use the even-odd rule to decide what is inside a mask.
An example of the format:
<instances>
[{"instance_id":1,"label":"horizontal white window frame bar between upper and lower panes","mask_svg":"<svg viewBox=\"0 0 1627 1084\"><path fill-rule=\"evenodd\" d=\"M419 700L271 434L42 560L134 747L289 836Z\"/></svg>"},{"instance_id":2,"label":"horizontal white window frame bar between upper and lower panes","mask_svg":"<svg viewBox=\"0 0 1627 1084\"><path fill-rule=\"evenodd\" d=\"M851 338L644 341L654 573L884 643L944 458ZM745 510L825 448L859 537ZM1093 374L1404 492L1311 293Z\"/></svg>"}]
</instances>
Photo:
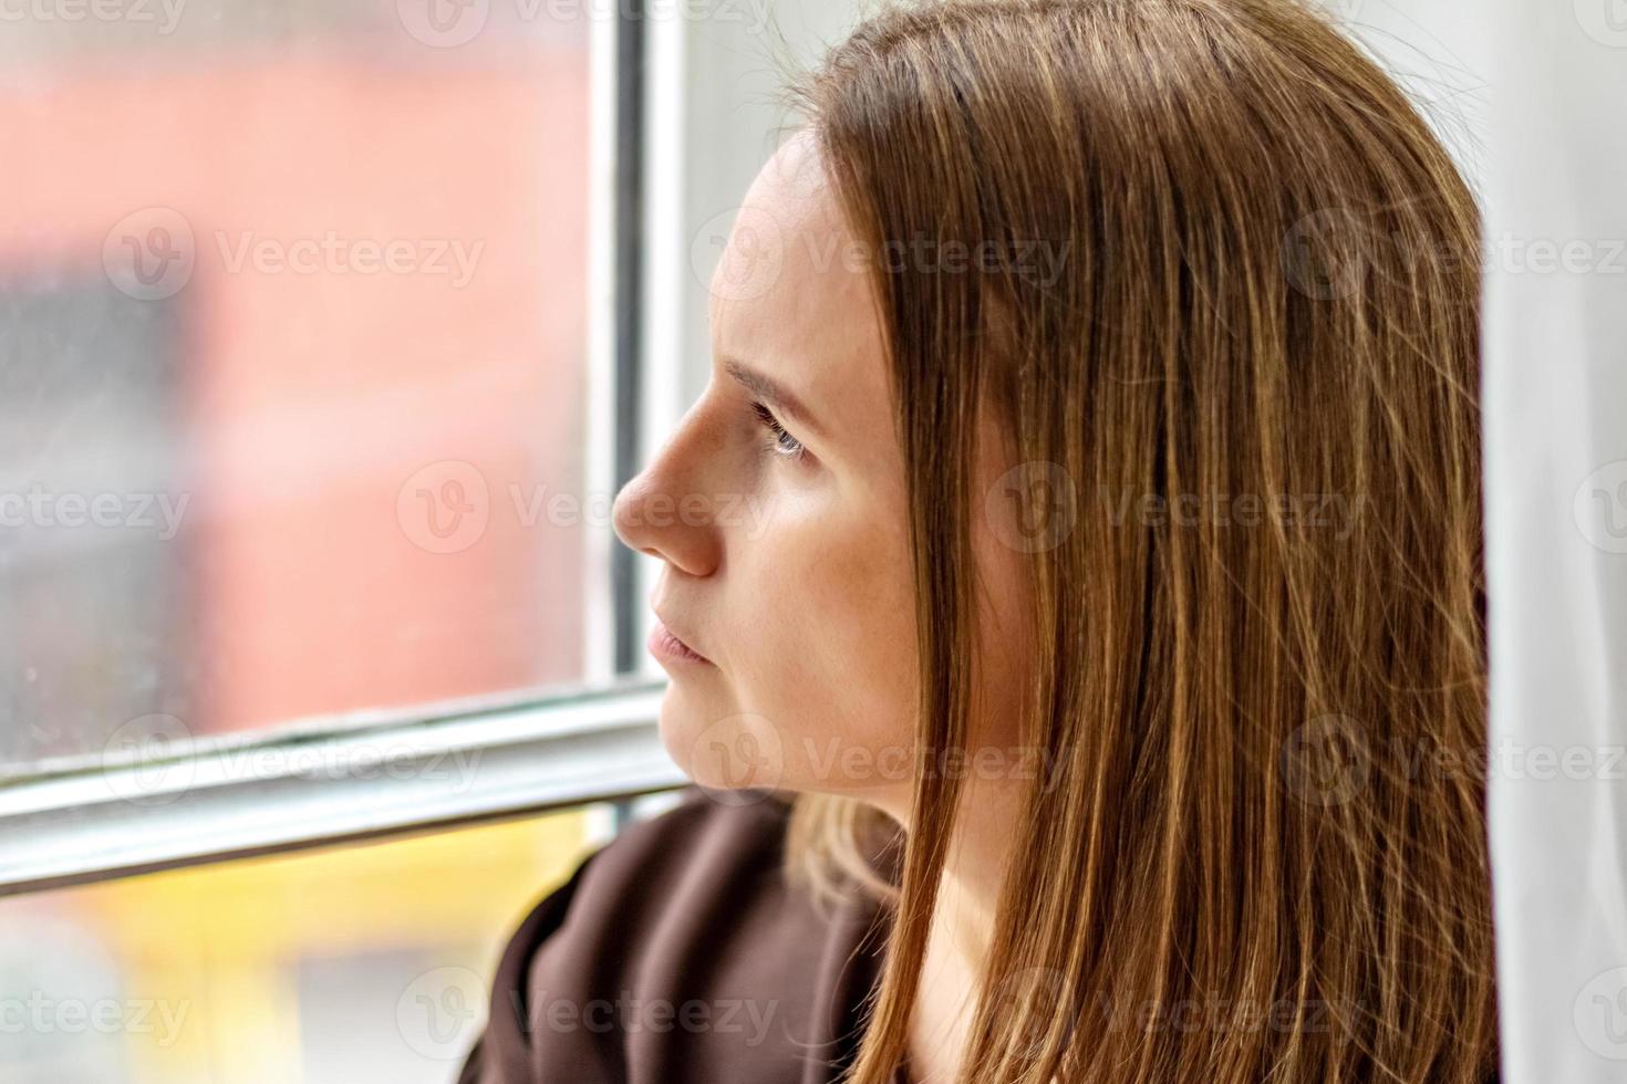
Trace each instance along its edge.
<instances>
[{"instance_id":1,"label":"horizontal white window frame bar between upper and lower panes","mask_svg":"<svg viewBox=\"0 0 1627 1084\"><path fill-rule=\"evenodd\" d=\"M669 790L661 694L631 679L60 757L0 787L0 895Z\"/></svg>"}]
</instances>

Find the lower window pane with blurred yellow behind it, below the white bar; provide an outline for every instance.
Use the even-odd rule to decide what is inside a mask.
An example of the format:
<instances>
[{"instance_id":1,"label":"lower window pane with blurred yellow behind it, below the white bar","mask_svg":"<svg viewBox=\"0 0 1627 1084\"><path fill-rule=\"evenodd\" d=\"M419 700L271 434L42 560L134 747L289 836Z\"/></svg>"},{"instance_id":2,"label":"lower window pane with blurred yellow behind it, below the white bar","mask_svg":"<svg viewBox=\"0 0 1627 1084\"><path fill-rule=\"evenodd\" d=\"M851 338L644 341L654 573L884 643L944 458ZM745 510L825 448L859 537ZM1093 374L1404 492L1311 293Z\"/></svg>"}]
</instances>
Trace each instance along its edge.
<instances>
[{"instance_id":1,"label":"lower window pane with blurred yellow behind it, below the white bar","mask_svg":"<svg viewBox=\"0 0 1627 1084\"><path fill-rule=\"evenodd\" d=\"M610 809L0 900L7 1084L447 1084Z\"/></svg>"}]
</instances>

